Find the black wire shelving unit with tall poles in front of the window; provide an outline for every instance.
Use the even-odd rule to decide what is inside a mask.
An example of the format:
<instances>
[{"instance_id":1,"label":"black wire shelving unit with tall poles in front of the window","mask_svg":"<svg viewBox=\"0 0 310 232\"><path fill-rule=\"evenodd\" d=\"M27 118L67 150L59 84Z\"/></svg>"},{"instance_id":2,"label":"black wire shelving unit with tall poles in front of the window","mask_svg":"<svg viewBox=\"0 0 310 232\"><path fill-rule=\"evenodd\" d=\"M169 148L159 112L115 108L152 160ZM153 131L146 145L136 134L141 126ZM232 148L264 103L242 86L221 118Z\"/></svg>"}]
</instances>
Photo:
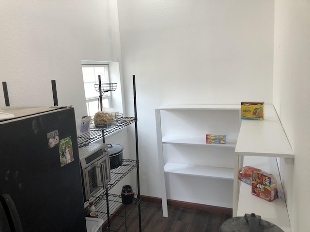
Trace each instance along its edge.
<instances>
[{"instance_id":1,"label":"black wire shelving unit with tall poles in front of the window","mask_svg":"<svg viewBox=\"0 0 310 232\"><path fill-rule=\"evenodd\" d=\"M100 106L102 109L102 84L97 86L100 96ZM114 84L114 83L112 83ZM116 85L109 86L111 91L115 90ZM114 88L115 87L115 88ZM96 87L95 87L96 88ZM96 89L97 90L97 89ZM126 223L126 218L131 214L131 212L138 206L138 217L139 217L139 231L141 228L141 207L140 207L140 174L139 174L139 151L138 151L138 125L137 125L137 102L136 102L136 80L135 75L133 75L133 93L134 93L134 117L118 117L117 120L112 121L105 126L95 126L93 123L91 125L90 131L78 135L78 147L87 146L96 140L102 139L105 143L105 136L121 130L122 128L135 123L135 139L136 139L136 160L123 160L121 166L116 169L111 170L111 180L107 184L105 189L98 191L90 201L93 201L96 211L98 212L98 217L102 218L105 223L102 227L103 231L117 232ZM113 188L117 183L119 183L127 174L132 170L136 169L137 172L137 198L134 199L132 204L123 204L121 195L110 194L109 190Z\"/></svg>"}]
</instances>

